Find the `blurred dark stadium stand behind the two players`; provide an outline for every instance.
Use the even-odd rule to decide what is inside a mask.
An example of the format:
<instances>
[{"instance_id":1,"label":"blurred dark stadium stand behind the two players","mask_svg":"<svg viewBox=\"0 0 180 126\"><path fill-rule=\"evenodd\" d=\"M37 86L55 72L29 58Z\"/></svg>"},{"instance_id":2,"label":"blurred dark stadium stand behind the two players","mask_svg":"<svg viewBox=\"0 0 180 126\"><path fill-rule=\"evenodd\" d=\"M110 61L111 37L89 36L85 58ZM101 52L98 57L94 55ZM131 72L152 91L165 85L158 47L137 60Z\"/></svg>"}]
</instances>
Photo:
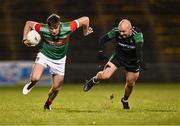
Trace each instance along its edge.
<instances>
[{"instance_id":1,"label":"blurred dark stadium stand behind the two players","mask_svg":"<svg viewBox=\"0 0 180 126\"><path fill-rule=\"evenodd\" d=\"M148 70L139 81L180 81L180 1L179 0L0 0L0 61L33 61L40 47L22 44L25 22L44 22L51 13L62 21L81 16L90 18L93 34L84 37L82 29L71 36L66 81L81 82L102 69L105 62L97 59L98 39L129 19L144 33L144 58ZM111 55L114 46L107 44ZM122 80L123 69L110 81Z\"/></svg>"}]
</instances>

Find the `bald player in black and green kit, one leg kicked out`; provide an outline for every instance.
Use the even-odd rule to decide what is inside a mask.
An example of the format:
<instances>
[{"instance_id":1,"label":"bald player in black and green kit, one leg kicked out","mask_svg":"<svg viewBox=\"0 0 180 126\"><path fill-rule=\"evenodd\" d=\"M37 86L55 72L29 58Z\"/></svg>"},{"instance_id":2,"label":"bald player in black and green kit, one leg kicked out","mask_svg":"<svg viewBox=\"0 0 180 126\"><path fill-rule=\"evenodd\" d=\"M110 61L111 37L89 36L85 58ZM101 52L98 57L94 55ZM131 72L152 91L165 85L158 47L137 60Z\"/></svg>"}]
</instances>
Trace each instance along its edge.
<instances>
[{"instance_id":1,"label":"bald player in black and green kit, one leg kicked out","mask_svg":"<svg viewBox=\"0 0 180 126\"><path fill-rule=\"evenodd\" d=\"M83 90L87 92L97 82L109 79L122 66L126 70L126 84L124 97L121 98L121 102L124 109L130 109L128 98L139 77L140 69L145 69L142 51L144 43L143 33L137 27L132 26L129 20L121 20L118 27L113 28L100 39L100 58L104 57L104 44L113 39L117 42L114 53L104 69L84 84Z\"/></svg>"}]
</instances>

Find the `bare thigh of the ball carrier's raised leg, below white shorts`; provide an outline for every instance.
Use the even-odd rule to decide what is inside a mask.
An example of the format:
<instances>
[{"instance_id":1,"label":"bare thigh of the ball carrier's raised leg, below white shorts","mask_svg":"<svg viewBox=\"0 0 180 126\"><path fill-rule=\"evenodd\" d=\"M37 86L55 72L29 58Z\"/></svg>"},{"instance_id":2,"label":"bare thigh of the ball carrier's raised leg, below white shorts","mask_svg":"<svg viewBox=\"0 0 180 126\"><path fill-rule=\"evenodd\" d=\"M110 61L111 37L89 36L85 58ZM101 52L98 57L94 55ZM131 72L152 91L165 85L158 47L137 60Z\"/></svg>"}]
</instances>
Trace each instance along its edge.
<instances>
[{"instance_id":1,"label":"bare thigh of the ball carrier's raised leg, below white shorts","mask_svg":"<svg viewBox=\"0 0 180 126\"><path fill-rule=\"evenodd\" d=\"M39 63L35 63L32 72L31 72L31 79L39 80L42 76L42 73L44 71L44 66Z\"/></svg>"}]
</instances>

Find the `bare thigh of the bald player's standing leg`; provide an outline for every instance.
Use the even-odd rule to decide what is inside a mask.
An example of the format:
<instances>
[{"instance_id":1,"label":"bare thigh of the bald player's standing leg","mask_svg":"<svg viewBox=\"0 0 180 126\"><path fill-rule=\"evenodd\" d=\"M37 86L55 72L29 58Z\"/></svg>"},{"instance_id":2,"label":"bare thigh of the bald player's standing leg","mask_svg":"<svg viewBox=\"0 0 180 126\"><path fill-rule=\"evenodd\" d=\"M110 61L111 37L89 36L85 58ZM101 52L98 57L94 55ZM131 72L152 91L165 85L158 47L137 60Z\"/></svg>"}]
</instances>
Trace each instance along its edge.
<instances>
[{"instance_id":1,"label":"bare thigh of the bald player's standing leg","mask_svg":"<svg viewBox=\"0 0 180 126\"><path fill-rule=\"evenodd\" d=\"M126 82L129 84L135 84L139 77L139 72L126 72Z\"/></svg>"}]
</instances>

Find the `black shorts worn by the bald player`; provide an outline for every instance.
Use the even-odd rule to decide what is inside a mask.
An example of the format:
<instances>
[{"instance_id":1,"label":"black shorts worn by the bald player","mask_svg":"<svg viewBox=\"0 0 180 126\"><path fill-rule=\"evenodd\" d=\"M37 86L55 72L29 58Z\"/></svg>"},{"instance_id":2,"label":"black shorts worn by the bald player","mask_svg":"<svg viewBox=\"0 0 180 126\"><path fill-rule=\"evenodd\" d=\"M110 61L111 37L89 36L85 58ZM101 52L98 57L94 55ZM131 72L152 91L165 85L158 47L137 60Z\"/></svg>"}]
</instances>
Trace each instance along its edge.
<instances>
[{"instance_id":1,"label":"black shorts worn by the bald player","mask_svg":"<svg viewBox=\"0 0 180 126\"><path fill-rule=\"evenodd\" d=\"M114 53L110 60L116 67L124 67L128 72L139 72L140 66L137 64L137 60L128 60Z\"/></svg>"}]
</instances>

